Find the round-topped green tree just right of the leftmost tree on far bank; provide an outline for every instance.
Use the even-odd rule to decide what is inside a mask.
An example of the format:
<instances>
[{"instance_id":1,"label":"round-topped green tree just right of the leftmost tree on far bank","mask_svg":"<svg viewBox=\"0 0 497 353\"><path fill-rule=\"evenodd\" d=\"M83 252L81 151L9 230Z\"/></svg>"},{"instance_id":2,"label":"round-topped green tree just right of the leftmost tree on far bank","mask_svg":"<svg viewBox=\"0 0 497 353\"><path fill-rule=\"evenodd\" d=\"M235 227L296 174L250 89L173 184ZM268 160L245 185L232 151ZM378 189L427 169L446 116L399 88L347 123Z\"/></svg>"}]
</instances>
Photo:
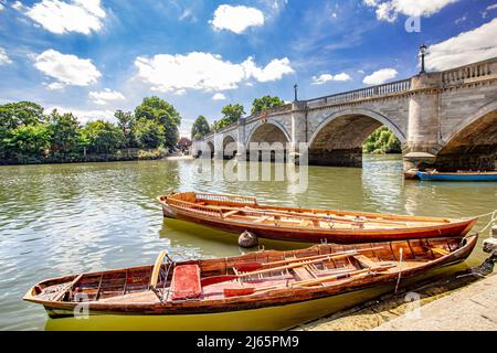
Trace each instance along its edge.
<instances>
[{"instance_id":1,"label":"round-topped green tree just right of the leftmost tree on far bank","mask_svg":"<svg viewBox=\"0 0 497 353\"><path fill-rule=\"evenodd\" d=\"M56 109L49 116L49 131L52 153L68 154L80 148L80 121L71 114L60 115Z\"/></svg>"}]
</instances>

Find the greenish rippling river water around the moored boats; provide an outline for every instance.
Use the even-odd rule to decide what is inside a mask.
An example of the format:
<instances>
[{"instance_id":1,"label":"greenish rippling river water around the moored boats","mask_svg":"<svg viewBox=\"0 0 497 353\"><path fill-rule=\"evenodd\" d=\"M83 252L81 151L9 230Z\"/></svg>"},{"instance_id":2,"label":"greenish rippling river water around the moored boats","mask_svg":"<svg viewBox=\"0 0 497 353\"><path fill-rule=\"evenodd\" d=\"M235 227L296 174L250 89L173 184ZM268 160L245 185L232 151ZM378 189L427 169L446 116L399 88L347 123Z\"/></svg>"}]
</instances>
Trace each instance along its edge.
<instances>
[{"instance_id":1,"label":"greenish rippling river water around the moored boats","mask_svg":"<svg viewBox=\"0 0 497 353\"><path fill-rule=\"evenodd\" d=\"M191 160L0 167L0 330L45 328L44 309L21 300L45 278L152 264L163 248L176 259L246 252L235 235L165 221L156 196L178 190L426 216L470 216L497 208L497 183L404 181L399 156L366 156L362 169L309 167L307 189L292 192L287 181L200 178ZM275 249L303 246L261 243ZM484 259L478 246L466 263Z\"/></svg>"}]
</instances>

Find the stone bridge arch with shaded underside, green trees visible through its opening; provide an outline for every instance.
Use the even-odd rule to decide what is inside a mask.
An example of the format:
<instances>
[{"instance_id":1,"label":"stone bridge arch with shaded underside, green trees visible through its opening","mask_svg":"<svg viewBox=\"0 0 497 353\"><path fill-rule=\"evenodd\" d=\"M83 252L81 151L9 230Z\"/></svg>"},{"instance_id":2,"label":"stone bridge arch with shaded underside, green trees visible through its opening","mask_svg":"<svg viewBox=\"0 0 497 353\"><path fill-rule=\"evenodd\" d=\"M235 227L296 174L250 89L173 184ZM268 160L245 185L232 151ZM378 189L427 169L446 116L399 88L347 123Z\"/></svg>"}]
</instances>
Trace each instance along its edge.
<instances>
[{"instance_id":1,"label":"stone bridge arch with shaded underside, green trees visible through its opening","mask_svg":"<svg viewBox=\"0 0 497 353\"><path fill-rule=\"evenodd\" d=\"M401 142L404 132L384 115L367 108L347 108L325 118L309 139L310 164L361 167L362 143L379 127L387 126Z\"/></svg>"}]
</instances>

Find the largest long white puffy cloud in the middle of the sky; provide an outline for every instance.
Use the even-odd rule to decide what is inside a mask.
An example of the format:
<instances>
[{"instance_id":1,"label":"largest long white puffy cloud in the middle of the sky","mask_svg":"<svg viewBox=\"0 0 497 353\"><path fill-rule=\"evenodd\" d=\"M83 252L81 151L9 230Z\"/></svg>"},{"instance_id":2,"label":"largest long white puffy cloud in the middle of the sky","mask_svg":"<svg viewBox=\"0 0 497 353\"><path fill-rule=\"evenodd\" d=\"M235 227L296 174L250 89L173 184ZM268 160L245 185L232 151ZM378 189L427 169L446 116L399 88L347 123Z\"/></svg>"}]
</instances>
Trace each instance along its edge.
<instances>
[{"instance_id":1,"label":"largest long white puffy cloud in the middle of the sky","mask_svg":"<svg viewBox=\"0 0 497 353\"><path fill-rule=\"evenodd\" d=\"M252 57L234 64L220 55L193 52L186 55L157 54L135 60L138 78L151 85L152 90L178 89L224 90L234 89L250 78L258 82L276 81L293 73L287 57L273 60L265 67L254 64Z\"/></svg>"}]
</instances>

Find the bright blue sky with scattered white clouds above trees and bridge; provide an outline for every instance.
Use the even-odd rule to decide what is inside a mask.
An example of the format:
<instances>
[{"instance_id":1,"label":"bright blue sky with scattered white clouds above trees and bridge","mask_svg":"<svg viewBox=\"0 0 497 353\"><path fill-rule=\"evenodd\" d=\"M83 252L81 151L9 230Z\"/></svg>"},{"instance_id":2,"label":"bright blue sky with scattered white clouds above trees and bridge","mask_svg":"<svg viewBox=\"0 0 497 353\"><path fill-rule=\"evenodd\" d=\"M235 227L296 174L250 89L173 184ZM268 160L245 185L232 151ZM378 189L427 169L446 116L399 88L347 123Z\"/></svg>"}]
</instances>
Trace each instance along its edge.
<instances>
[{"instance_id":1,"label":"bright blue sky with scattered white clouds above trees and bridge","mask_svg":"<svg viewBox=\"0 0 497 353\"><path fill-rule=\"evenodd\" d=\"M319 96L497 56L497 0L0 0L0 104L113 121L147 96L189 136L228 104Z\"/></svg>"}]
</instances>

